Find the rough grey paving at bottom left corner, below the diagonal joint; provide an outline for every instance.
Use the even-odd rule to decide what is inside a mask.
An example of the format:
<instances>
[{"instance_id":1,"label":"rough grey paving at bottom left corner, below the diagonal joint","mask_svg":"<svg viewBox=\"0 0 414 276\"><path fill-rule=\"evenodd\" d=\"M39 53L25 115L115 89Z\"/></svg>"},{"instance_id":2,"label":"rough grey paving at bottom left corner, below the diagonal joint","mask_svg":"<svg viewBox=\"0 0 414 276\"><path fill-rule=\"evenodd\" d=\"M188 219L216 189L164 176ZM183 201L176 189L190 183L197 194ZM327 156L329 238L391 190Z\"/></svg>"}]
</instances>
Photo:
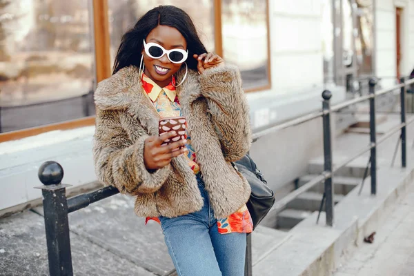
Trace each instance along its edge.
<instances>
[{"instance_id":1,"label":"rough grey paving at bottom left corner, below the diagonal joint","mask_svg":"<svg viewBox=\"0 0 414 276\"><path fill-rule=\"evenodd\" d=\"M155 275L75 233L70 242L74 275ZM43 217L25 211L0 220L0 275L49 275Z\"/></svg>"}]
</instances>

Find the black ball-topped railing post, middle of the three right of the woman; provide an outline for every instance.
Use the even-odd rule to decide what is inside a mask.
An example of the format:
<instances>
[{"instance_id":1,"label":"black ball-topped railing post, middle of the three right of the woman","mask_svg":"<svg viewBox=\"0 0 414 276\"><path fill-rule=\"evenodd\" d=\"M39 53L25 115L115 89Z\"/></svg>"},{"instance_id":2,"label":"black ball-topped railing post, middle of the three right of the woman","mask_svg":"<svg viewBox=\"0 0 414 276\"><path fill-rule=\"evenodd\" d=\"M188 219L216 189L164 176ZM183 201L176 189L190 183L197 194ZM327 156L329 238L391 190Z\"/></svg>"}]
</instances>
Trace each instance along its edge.
<instances>
[{"instance_id":1,"label":"black ball-topped railing post, middle of the three right of the woman","mask_svg":"<svg viewBox=\"0 0 414 276\"><path fill-rule=\"evenodd\" d=\"M370 79L369 94L372 96L369 99L369 133L371 139L371 195L377 193L377 138L375 130L375 85L377 79Z\"/></svg>"}]
</instances>

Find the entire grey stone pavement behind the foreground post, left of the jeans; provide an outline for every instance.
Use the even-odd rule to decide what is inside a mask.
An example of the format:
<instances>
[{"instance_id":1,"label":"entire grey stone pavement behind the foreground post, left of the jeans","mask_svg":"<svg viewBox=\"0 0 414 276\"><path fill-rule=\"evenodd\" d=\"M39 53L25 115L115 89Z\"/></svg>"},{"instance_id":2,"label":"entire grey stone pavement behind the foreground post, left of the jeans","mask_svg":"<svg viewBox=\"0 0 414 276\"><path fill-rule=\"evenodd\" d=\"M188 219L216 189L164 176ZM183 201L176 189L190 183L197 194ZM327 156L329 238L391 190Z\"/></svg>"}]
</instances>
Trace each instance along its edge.
<instances>
[{"instance_id":1,"label":"entire grey stone pavement behind the foreground post, left of the jeans","mask_svg":"<svg viewBox=\"0 0 414 276\"><path fill-rule=\"evenodd\" d=\"M132 197L115 195L69 215L74 275L162 275L172 269L161 228L144 226ZM35 212L34 212L35 211ZM42 209L0 220L0 275L48 275Z\"/></svg>"}]
</instances>

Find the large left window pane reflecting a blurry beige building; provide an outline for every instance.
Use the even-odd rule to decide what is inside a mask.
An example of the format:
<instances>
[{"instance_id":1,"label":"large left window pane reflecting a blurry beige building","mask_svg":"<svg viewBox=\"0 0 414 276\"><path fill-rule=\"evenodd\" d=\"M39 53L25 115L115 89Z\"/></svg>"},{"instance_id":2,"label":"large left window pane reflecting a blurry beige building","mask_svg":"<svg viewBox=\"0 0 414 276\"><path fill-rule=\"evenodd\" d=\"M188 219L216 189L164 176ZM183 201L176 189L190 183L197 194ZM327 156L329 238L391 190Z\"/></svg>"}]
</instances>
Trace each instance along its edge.
<instances>
[{"instance_id":1,"label":"large left window pane reflecting a blurry beige building","mask_svg":"<svg viewBox=\"0 0 414 276\"><path fill-rule=\"evenodd\" d=\"M0 0L0 132L93 112L88 3Z\"/></svg>"}]
</instances>

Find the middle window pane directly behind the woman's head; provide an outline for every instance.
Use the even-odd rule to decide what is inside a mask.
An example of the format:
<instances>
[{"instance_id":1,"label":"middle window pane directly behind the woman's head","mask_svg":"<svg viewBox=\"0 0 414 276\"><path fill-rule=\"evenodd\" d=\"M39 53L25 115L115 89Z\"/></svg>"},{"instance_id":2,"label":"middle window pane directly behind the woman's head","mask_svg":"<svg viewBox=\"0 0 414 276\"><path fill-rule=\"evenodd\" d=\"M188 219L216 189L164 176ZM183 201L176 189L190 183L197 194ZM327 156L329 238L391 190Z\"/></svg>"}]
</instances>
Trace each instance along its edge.
<instances>
[{"instance_id":1,"label":"middle window pane directly behind the woman's head","mask_svg":"<svg viewBox=\"0 0 414 276\"><path fill-rule=\"evenodd\" d=\"M160 5L174 5L185 10L193 19L204 46L206 46L208 51L215 50L215 10L211 0L197 1L197 5L188 0L109 0L108 13L112 65L121 43L122 34L129 28L132 28L148 10ZM201 17L199 16L200 11L203 14Z\"/></svg>"}]
</instances>

